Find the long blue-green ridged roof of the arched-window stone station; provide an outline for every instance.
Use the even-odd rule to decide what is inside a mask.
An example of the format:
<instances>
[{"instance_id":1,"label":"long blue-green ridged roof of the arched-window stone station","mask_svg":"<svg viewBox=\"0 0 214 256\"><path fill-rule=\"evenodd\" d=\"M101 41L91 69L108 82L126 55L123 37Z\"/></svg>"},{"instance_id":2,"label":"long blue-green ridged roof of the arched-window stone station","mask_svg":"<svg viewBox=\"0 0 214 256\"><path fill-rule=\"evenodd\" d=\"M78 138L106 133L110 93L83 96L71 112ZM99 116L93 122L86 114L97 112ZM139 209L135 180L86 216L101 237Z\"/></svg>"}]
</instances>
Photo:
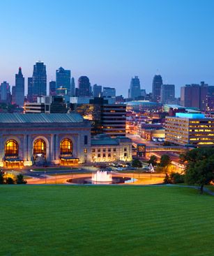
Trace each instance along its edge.
<instances>
[{"instance_id":1,"label":"long blue-green ridged roof of the arched-window stone station","mask_svg":"<svg viewBox=\"0 0 214 256\"><path fill-rule=\"evenodd\" d=\"M82 123L84 119L80 114L0 114L0 123Z\"/></svg>"}]
</instances>

